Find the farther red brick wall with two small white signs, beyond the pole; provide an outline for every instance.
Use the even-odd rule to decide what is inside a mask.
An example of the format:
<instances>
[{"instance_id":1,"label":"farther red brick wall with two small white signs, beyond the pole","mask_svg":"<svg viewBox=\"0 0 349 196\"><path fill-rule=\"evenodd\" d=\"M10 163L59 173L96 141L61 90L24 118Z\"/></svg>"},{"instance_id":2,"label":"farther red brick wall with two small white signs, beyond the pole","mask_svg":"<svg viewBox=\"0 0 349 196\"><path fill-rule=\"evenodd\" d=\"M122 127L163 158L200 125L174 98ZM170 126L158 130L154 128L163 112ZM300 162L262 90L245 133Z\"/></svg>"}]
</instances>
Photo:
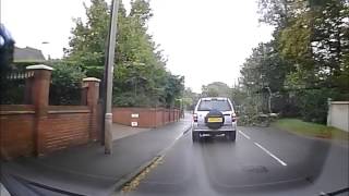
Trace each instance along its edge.
<instances>
[{"instance_id":1,"label":"farther red brick wall with two small white signs, beyond the pole","mask_svg":"<svg viewBox=\"0 0 349 196\"><path fill-rule=\"evenodd\" d=\"M139 118L132 118L132 113L137 113ZM131 125L137 122L139 127L158 127L179 120L178 109L165 108L113 108L112 122Z\"/></svg>"}]
</instances>

